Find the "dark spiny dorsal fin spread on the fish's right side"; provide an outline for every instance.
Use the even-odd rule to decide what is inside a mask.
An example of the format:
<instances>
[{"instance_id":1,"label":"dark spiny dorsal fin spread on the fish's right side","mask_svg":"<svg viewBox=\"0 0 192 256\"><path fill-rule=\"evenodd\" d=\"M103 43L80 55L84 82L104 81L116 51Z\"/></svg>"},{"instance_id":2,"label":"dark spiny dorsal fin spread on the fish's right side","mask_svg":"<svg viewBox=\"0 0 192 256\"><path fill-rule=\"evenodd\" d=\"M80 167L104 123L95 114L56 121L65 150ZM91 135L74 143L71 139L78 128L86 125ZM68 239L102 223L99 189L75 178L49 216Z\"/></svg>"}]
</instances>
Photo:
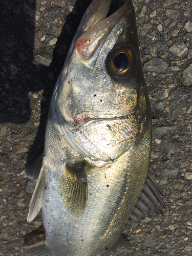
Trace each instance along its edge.
<instances>
[{"instance_id":1,"label":"dark spiny dorsal fin spread on the fish's right side","mask_svg":"<svg viewBox=\"0 0 192 256\"><path fill-rule=\"evenodd\" d=\"M153 169L150 167L146 176L145 184L141 190L140 197L133 209L129 221L138 222L140 219L150 216L150 214L165 215L165 205L162 201L162 192L155 181L156 176Z\"/></svg>"}]
</instances>

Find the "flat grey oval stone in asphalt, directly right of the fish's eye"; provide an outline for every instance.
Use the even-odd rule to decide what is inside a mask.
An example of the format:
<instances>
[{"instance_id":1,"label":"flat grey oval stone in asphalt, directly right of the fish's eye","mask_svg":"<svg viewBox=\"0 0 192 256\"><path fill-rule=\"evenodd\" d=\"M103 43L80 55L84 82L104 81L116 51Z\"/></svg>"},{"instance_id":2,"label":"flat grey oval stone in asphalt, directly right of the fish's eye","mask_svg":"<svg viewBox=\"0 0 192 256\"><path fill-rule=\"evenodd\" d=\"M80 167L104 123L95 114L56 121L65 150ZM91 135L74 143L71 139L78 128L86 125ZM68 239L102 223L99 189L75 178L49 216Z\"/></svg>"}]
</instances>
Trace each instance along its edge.
<instances>
[{"instance_id":1,"label":"flat grey oval stone in asphalt, directly right of the fish's eye","mask_svg":"<svg viewBox=\"0 0 192 256\"><path fill-rule=\"evenodd\" d=\"M160 58L153 58L144 63L143 67L148 71L155 71L161 73L167 69L168 64Z\"/></svg>"}]
</instances>

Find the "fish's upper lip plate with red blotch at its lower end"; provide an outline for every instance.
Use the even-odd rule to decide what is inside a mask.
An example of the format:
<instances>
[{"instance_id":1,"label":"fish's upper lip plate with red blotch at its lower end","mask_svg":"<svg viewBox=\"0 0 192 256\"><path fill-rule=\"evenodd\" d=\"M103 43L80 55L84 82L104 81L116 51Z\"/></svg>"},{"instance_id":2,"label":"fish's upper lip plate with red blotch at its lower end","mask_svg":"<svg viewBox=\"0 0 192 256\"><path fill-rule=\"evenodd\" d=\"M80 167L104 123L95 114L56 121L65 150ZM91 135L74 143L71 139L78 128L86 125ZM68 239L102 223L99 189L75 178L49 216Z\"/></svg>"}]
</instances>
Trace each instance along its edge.
<instances>
[{"instance_id":1,"label":"fish's upper lip plate with red blotch at its lower end","mask_svg":"<svg viewBox=\"0 0 192 256\"><path fill-rule=\"evenodd\" d=\"M105 1L106 0L100 0L100 5ZM111 1L108 2L111 3ZM90 66L89 62L98 56L105 38L109 35L115 24L117 24L122 17L129 16L132 6L132 1L127 0L122 7L109 17L105 17L107 15L106 12L101 12L101 16L98 15L99 21L95 23L92 22L83 30L80 37L76 40L75 46L78 54L84 62L88 63L88 66ZM91 17L88 17L88 19L89 18Z\"/></svg>"}]
</instances>

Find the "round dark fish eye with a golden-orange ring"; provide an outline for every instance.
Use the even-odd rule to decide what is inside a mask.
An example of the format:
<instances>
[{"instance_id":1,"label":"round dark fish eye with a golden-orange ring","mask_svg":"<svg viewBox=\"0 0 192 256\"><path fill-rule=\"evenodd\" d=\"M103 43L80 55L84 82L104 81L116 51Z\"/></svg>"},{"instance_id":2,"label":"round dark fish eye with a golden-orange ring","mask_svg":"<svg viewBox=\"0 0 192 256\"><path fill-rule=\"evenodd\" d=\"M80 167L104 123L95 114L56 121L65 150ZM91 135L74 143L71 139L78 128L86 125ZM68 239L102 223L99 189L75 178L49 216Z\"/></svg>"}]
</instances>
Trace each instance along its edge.
<instances>
[{"instance_id":1,"label":"round dark fish eye with a golden-orange ring","mask_svg":"<svg viewBox=\"0 0 192 256\"><path fill-rule=\"evenodd\" d=\"M112 50L106 57L106 71L113 77L124 78L130 76L135 69L135 53L128 46Z\"/></svg>"}]
</instances>

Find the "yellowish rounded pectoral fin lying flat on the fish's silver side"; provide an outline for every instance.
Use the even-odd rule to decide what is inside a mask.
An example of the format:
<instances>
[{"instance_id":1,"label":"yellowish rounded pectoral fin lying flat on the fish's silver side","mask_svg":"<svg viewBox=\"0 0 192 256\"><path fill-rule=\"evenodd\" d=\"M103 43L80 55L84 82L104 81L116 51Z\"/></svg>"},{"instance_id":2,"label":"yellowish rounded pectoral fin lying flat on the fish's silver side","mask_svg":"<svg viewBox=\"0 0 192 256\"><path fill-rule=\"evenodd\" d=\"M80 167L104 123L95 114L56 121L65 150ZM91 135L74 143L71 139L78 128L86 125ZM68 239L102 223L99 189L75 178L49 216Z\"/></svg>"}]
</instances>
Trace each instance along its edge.
<instances>
[{"instance_id":1,"label":"yellowish rounded pectoral fin lying flat on the fish's silver side","mask_svg":"<svg viewBox=\"0 0 192 256\"><path fill-rule=\"evenodd\" d=\"M66 164L59 181L63 204L73 216L81 216L88 201L88 182L85 162Z\"/></svg>"}]
</instances>

